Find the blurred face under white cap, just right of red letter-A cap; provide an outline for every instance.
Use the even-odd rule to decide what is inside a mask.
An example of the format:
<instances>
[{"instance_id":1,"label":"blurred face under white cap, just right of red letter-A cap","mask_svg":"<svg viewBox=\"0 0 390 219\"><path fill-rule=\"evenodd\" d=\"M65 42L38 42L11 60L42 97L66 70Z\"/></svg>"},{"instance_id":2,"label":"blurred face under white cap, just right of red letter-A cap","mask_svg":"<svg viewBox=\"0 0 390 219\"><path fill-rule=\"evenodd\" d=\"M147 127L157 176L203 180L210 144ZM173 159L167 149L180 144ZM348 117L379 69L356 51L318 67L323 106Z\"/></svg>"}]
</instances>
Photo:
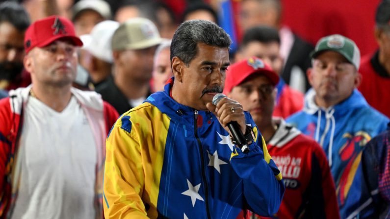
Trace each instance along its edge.
<instances>
[{"instance_id":1,"label":"blurred face under white cap, just right of red letter-A cap","mask_svg":"<svg viewBox=\"0 0 390 219\"><path fill-rule=\"evenodd\" d=\"M102 21L104 21L102 15L94 10L84 10L80 12L74 22L76 35L81 36L83 34L91 33L93 27Z\"/></svg>"}]
</instances>

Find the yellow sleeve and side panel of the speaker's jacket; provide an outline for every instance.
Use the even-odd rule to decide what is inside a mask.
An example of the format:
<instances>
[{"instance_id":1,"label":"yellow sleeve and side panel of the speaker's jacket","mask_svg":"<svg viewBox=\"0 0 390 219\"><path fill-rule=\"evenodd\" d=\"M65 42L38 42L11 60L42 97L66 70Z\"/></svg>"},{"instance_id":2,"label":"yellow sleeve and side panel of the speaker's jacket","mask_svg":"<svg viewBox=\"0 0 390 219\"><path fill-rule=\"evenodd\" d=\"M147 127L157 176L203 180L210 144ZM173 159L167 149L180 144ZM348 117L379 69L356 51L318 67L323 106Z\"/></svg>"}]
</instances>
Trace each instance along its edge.
<instances>
[{"instance_id":1,"label":"yellow sleeve and side panel of the speaker's jacket","mask_svg":"<svg viewBox=\"0 0 390 219\"><path fill-rule=\"evenodd\" d=\"M126 116L130 116L130 133L121 128L122 118ZM169 123L169 118L155 106L143 103L122 115L114 125L106 142L106 219L157 217L158 188ZM126 127L130 128L129 125ZM150 206L148 212L145 204Z\"/></svg>"}]
</instances>

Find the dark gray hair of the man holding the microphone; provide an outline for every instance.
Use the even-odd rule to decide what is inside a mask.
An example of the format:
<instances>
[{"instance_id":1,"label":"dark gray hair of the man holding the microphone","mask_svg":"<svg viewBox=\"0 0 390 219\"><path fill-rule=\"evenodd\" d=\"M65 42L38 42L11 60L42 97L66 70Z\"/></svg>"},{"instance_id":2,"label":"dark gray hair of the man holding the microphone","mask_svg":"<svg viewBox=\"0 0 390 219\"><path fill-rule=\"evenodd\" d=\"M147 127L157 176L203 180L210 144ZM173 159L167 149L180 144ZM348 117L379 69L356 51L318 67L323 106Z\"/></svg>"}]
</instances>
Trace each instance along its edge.
<instances>
[{"instance_id":1,"label":"dark gray hair of the man holding the microphone","mask_svg":"<svg viewBox=\"0 0 390 219\"><path fill-rule=\"evenodd\" d=\"M198 43L219 48L229 48L232 40L229 35L209 21L191 20L185 21L176 30L171 44L171 61L173 57L179 57L186 66L198 53Z\"/></svg>"}]
</instances>

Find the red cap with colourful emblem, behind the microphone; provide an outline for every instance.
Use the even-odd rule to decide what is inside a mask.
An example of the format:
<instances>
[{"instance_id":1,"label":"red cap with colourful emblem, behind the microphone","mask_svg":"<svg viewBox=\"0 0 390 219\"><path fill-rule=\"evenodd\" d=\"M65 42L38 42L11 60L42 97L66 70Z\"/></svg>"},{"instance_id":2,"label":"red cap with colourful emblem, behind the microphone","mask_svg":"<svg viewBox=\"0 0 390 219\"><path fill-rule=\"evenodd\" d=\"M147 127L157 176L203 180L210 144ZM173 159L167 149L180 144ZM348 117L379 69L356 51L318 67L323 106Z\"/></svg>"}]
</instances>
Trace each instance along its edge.
<instances>
[{"instance_id":1,"label":"red cap with colourful emblem, behind the microphone","mask_svg":"<svg viewBox=\"0 0 390 219\"><path fill-rule=\"evenodd\" d=\"M269 65L265 64L263 60L259 58L251 57L229 66L226 71L223 93L228 95L235 86L239 85L247 77L255 73L266 76L274 86L279 83L279 75L275 73Z\"/></svg>"}]
</instances>

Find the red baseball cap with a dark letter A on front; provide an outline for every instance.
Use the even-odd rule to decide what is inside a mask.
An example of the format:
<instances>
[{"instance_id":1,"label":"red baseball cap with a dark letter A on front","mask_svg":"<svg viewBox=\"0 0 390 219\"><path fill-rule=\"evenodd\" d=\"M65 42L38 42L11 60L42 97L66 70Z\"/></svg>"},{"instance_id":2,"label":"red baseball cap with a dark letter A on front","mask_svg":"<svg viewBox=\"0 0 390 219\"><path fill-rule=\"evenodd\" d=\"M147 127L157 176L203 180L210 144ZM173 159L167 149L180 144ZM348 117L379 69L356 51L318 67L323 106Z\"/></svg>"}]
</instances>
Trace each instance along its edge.
<instances>
[{"instance_id":1,"label":"red baseball cap with a dark letter A on front","mask_svg":"<svg viewBox=\"0 0 390 219\"><path fill-rule=\"evenodd\" d=\"M76 36L75 27L70 20L56 15L38 20L26 30L26 54L34 47L45 47L55 40L64 38L71 40L75 46L82 46L82 42Z\"/></svg>"}]
</instances>

